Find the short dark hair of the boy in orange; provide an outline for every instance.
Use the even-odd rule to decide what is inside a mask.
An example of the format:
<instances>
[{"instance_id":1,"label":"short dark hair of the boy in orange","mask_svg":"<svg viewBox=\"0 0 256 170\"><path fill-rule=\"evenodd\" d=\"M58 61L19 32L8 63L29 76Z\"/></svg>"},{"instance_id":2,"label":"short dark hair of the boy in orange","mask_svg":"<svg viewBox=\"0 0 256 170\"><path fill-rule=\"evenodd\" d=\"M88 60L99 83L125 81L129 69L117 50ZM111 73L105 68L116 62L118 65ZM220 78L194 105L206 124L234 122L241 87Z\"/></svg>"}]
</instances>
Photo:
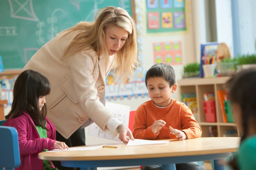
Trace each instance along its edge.
<instances>
[{"instance_id":1,"label":"short dark hair of the boy in orange","mask_svg":"<svg viewBox=\"0 0 256 170\"><path fill-rule=\"evenodd\" d=\"M146 74L145 83L149 78L161 77L169 82L170 87L175 84L175 71L172 66L168 64L158 63L153 65Z\"/></svg>"}]
</instances>

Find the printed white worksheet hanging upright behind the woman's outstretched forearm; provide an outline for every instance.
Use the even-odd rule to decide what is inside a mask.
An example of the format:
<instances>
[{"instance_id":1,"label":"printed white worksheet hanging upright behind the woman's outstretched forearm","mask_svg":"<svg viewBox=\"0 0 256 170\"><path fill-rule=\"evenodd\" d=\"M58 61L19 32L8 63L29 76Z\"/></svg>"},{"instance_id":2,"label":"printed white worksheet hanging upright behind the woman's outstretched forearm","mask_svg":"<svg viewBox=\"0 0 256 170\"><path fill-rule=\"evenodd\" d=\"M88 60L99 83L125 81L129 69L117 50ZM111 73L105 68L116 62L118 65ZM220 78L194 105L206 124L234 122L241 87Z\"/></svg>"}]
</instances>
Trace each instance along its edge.
<instances>
[{"instance_id":1,"label":"printed white worksheet hanging upright behind the woman's outstretched forearm","mask_svg":"<svg viewBox=\"0 0 256 170\"><path fill-rule=\"evenodd\" d=\"M128 127L130 106L106 102L105 107L109 109L118 120L120 120L123 124L125 124ZM101 128L99 128L99 126L95 123L89 125L88 135L121 142L120 139L118 139L118 135L115 138L112 138L105 131L102 131Z\"/></svg>"}]
</instances>

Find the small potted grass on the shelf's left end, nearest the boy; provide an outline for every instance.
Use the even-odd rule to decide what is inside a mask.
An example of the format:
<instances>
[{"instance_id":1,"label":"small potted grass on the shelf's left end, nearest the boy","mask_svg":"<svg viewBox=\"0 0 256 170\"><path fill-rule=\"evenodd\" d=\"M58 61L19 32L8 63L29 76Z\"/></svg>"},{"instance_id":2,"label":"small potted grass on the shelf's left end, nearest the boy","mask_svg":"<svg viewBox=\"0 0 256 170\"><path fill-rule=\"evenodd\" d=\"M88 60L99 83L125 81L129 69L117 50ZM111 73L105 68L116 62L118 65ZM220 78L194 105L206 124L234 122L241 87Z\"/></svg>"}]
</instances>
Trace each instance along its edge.
<instances>
[{"instance_id":1,"label":"small potted grass on the shelf's left end, nearest the boy","mask_svg":"<svg viewBox=\"0 0 256 170\"><path fill-rule=\"evenodd\" d=\"M184 66L182 78L199 77L200 64L197 62L189 63Z\"/></svg>"}]
</instances>

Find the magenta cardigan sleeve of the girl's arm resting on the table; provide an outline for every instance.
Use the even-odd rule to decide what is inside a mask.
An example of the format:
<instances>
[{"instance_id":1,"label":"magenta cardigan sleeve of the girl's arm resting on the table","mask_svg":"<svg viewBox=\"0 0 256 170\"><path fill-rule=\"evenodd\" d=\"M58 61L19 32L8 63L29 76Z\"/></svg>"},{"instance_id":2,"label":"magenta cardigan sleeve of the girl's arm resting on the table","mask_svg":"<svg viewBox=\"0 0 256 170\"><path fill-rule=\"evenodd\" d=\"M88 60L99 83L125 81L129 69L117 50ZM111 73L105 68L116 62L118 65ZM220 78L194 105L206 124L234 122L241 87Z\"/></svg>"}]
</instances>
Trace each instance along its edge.
<instances>
[{"instance_id":1,"label":"magenta cardigan sleeve of the girl's arm resting on the table","mask_svg":"<svg viewBox=\"0 0 256 170\"><path fill-rule=\"evenodd\" d=\"M18 131L20 155L30 155L42 152L44 149L54 149L55 140L49 138L34 138L36 131L31 123L26 119L14 118L10 120L9 126Z\"/></svg>"}]
</instances>

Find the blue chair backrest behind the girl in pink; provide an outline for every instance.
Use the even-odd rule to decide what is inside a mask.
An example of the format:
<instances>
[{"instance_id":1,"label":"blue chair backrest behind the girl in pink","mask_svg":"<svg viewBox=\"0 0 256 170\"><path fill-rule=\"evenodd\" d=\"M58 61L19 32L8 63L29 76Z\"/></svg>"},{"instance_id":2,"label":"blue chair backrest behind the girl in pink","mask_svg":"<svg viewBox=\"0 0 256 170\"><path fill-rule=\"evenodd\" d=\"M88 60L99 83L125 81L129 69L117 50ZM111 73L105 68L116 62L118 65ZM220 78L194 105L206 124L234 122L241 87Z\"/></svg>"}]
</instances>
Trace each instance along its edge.
<instances>
[{"instance_id":1,"label":"blue chair backrest behind the girl in pink","mask_svg":"<svg viewBox=\"0 0 256 170\"><path fill-rule=\"evenodd\" d=\"M14 170L21 164L18 132L14 127L0 126L0 137L0 169Z\"/></svg>"}]
</instances>

